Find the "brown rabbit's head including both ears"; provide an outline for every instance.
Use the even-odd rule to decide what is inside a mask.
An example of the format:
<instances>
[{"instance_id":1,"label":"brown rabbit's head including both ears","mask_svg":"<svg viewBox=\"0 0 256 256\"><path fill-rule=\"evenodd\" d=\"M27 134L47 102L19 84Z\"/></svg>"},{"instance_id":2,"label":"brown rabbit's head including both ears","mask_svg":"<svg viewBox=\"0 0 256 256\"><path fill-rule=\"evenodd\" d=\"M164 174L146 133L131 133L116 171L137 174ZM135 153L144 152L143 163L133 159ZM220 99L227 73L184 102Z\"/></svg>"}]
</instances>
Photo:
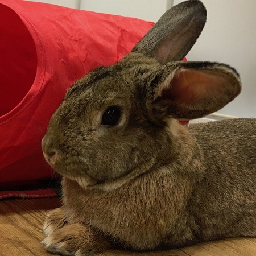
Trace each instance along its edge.
<instances>
[{"instance_id":1,"label":"brown rabbit's head including both ears","mask_svg":"<svg viewBox=\"0 0 256 256\"><path fill-rule=\"evenodd\" d=\"M203 117L241 90L225 64L180 61L203 30L206 10L168 10L122 61L94 69L68 90L43 138L44 156L82 187L113 189L175 156L175 119Z\"/></svg>"}]
</instances>

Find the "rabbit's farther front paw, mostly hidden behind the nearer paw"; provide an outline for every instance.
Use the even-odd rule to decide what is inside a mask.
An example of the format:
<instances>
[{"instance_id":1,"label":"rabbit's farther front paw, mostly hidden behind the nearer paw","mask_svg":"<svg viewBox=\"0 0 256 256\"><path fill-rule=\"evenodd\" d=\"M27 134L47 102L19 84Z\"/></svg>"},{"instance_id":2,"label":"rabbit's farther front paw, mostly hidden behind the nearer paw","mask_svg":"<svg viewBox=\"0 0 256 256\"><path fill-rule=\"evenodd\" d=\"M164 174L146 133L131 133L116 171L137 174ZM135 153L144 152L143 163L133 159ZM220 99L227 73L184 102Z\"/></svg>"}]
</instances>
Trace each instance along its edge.
<instances>
[{"instance_id":1,"label":"rabbit's farther front paw, mostly hidden behind the nearer paw","mask_svg":"<svg viewBox=\"0 0 256 256\"><path fill-rule=\"evenodd\" d=\"M66 224L67 218L65 217L63 209L54 209L46 216L46 220L43 225L43 233L46 236L49 236L53 231L62 228Z\"/></svg>"}]
</instances>

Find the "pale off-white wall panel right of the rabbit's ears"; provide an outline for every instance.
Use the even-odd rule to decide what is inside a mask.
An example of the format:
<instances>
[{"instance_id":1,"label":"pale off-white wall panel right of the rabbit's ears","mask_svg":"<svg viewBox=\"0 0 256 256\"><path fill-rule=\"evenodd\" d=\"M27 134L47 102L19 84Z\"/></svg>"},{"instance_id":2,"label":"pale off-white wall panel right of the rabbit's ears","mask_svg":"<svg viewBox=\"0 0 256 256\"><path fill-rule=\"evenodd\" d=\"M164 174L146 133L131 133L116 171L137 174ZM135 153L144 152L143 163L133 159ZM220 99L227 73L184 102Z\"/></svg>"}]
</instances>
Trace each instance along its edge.
<instances>
[{"instance_id":1,"label":"pale off-white wall panel right of the rabbit's ears","mask_svg":"<svg viewBox=\"0 0 256 256\"><path fill-rule=\"evenodd\" d=\"M232 65L241 75L242 93L218 113L256 117L256 1L201 0L207 24L189 60ZM174 5L183 1L174 0Z\"/></svg>"}]
</instances>

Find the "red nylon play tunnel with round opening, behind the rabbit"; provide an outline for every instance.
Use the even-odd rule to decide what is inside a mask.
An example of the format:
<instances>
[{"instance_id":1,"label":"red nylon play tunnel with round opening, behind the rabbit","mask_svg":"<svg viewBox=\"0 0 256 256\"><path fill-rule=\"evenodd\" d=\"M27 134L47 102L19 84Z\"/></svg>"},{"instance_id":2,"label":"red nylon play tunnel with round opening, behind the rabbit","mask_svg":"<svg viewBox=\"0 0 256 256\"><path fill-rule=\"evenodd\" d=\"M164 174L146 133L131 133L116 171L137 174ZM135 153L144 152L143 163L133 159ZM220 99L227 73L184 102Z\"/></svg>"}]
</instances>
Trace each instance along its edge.
<instances>
[{"instance_id":1,"label":"red nylon play tunnel with round opening, behind the rabbit","mask_svg":"<svg viewBox=\"0 0 256 256\"><path fill-rule=\"evenodd\" d=\"M121 60L153 25L0 0L0 187L51 176L40 141L69 86L93 68Z\"/></svg>"}]
</instances>

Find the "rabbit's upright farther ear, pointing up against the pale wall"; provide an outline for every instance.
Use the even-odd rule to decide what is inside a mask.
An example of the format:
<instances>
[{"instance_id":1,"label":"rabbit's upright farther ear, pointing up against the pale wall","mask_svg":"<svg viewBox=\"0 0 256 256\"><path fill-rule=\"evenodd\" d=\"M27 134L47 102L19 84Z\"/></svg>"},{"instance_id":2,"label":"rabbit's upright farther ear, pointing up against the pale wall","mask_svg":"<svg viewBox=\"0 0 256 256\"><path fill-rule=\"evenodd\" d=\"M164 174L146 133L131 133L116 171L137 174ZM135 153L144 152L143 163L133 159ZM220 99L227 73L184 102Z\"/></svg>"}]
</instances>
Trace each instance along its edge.
<instances>
[{"instance_id":1,"label":"rabbit's upright farther ear, pointing up against the pale wall","mask_svg":"<svg viewBox=\"0 0 256 256\"><path fill-rule=\"evenodd\" d=\"M207 11L200 1L182 2L166 11L133 52L154 57L160 64L181 60L201 34L206 17Z\"/></svg>"}]
</instances>

